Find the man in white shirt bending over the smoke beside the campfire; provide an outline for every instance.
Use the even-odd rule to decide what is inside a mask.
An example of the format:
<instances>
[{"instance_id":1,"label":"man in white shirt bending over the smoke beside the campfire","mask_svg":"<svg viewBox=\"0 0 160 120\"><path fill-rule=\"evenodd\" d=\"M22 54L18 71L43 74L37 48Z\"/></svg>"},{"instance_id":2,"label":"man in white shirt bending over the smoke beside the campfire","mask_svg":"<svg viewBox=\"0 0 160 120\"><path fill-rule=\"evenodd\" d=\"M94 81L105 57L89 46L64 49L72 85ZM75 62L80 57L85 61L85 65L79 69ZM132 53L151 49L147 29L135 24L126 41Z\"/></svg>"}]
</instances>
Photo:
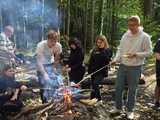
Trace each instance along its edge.
<instances>
[{"instance_id":1,"label":"man in white shirt bending over the smoke beside the campfire","mask_svg":"<svg viewBox=\"0 0 160 120\"><path fill-rule=\"evenodd\" d=\"M37 73L41 87L44 87L45 80L50 80L46 66L53 67L53 63L59 62L59 56L62 52L62 46L58 42L58 33L50 30L47 34L47 40L41 41L37 45L36 59L37 59ZM42 103L47 102L41 89Z\"/></svg>"}]
</instances>

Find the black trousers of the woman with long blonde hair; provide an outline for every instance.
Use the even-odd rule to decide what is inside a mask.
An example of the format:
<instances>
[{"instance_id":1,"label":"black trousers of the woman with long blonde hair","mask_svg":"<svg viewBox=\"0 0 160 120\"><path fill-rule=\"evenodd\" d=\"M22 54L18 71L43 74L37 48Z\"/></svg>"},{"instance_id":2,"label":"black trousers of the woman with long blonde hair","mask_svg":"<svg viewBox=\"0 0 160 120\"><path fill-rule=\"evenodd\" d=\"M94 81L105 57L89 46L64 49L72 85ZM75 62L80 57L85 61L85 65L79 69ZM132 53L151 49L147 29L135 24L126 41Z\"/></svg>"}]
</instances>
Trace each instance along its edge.
<instances>
[{"instance_id":1,"label":"black trousers of the woman with long blonde hair","mask_svg":"<svg viewBox=\"0 0 160 120\"><path fill-rule=\"evenodd\" d=\"M99 85L103 79L104 79L104 76L101 74L92 76L91 78L91 85L92 85L91 99L97 98L98 101L102 99Z\"/></svg>"}]
</instances>

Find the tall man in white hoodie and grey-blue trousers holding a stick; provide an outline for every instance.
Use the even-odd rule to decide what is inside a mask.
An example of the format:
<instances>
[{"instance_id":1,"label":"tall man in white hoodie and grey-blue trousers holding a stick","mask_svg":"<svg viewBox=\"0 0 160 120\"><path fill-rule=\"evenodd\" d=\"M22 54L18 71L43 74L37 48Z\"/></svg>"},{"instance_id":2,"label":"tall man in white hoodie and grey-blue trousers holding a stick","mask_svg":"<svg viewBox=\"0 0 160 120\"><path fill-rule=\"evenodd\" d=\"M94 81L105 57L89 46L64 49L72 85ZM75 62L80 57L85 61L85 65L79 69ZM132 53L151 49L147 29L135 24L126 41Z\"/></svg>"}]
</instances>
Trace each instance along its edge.
<instances>
[{"instance_id":1,"label":"tall man in white hoodie and grey-blue trousers holding a stick","mask_svg":"<svg viewBox=\"0 0 160 120\"><path fill-rule=\"evenodd\" d=\"M119 62L117 73L115 106L113 112L120 112L123 106L123 91L125 83L128 85L126 102L127 117L134 118L136 90L141 75L142 65L147 56L152 53L150 36L140 27L140 18L131 16L128 19L128 31L124 33L116 57L112 63Z\"/></svg>"}]
</instances>

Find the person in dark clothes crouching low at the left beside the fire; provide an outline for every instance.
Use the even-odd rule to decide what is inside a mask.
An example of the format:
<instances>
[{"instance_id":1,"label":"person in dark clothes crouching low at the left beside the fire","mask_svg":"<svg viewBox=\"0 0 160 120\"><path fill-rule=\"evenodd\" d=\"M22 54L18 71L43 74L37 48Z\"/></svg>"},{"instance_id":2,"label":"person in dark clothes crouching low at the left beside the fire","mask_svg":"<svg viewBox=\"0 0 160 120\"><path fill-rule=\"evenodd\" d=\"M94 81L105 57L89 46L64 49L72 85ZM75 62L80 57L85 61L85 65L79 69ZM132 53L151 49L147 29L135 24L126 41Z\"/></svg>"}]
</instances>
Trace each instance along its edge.
<instances>
[{"instance_id":1,"label":"person in dark clothes crouching low at the left beside the fire","mask_svg":"<svg viewBox=\"0 0 160 120\"><path fill-rule=\"evenodd\" d=\"M5 65L0 76L0 113L18 112L23 103L19 100L22 90L27 87L15 81L14 70L10 65Z\"/></svg>"}]
</instances>

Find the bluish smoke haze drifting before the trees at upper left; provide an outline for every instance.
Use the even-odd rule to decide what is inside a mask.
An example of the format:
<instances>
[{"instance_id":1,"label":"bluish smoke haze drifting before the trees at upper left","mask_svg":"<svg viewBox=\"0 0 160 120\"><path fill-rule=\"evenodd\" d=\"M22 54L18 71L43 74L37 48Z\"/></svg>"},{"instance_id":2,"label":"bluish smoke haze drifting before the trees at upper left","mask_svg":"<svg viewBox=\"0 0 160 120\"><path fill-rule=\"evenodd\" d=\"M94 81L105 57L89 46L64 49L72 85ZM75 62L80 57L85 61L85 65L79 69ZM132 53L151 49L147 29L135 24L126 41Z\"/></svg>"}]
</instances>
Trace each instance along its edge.
<instances>
[{"instance_id":1,"label":"bluish smoke haze drifting before the trees at upper left","mask_svg":"<svg viewBox=\"0 0 160 120\"><path fill-rule=\"evenodd\" d=\"M12 25L16 32L15 41L20 46L28 39L39 41L48 28L58 29L57 8L56 0L0 0L0 30ZM24 43L21 43L22 39ZM31 42L25 45L29 44Z\"/></svg>"}]
</instances>

